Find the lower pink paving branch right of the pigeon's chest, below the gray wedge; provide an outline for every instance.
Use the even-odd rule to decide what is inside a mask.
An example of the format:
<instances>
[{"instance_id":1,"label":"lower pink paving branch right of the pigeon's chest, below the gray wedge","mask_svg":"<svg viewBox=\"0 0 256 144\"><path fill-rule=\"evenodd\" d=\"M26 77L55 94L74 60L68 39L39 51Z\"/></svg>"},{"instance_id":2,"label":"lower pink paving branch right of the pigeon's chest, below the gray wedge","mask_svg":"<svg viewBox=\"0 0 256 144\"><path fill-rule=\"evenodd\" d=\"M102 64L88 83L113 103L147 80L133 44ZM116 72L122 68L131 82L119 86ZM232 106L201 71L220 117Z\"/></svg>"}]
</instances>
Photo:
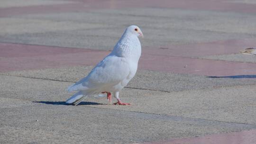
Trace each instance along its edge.
<instances>
[{"instance_id":1,"label":"lower pink paving branch right of the pigeon's chest, below the gray wedge","mask_svg":"<svg viewBox=\"0 0 256 144\"><path fill-rule=\"evenodd\" d=\"M196 74L205 76L234 76L256 74L256 63L238 63L185 57L143 55L139 69Z\"/></svg>"}]
</instances>

